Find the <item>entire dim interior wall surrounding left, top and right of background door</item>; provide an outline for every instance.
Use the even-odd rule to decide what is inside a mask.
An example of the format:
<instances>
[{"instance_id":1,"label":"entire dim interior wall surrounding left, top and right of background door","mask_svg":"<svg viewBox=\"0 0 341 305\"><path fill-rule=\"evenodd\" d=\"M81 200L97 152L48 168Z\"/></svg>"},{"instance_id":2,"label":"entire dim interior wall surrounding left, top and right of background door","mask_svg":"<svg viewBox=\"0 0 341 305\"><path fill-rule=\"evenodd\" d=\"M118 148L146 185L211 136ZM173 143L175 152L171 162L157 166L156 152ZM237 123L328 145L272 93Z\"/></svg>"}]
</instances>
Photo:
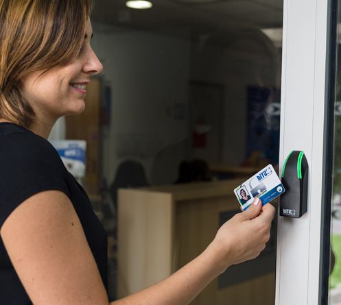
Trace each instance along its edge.
<instances>
[{"instance_id":1,"label":"entire dim interior wall surrounding left, top and right of background door","mask_svg":"<svg viewBox=\"0 0 341 305\"><path fill-rule=\"evenodd\" d=\"M190 139L187 118L174 118L174 104L187 104L189 80L224 86L223 162L244 160L246 88L279 84L279 58L266 36L244 33L219 47L146 32L108 32L98 24L93 29L93 49L112 88L103 152L109 183L119 162L128 157L141 160L150 176L156 155L168 182L175 180L177 162L185 158ZM169 149L163 152L165 147ZM157 182L167 183L162 179L158 173Z\"/></svg>"}]
</instances>

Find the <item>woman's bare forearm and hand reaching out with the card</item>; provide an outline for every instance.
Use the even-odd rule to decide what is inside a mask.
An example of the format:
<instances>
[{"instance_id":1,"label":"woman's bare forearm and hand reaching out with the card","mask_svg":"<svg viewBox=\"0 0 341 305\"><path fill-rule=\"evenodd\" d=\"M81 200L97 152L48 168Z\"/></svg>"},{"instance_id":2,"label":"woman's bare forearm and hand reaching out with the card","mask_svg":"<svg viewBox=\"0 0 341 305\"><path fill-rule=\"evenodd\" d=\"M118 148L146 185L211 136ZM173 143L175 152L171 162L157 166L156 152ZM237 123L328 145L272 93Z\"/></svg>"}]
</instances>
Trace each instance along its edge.
<instances>
[{"instance_id":1,"label":"woman's bare forearm and hand reaching out with the card","mask_svg":"<svg viewBox=\"0 0 341 305\"><path fill-rule=\"evenodd\" d=\"M251 205L224 223L209 247L185 267L162 282L111 304L189 304L226 268L259 255L270 238L273 217L274 207L270 204Z\"/></svg>"}]
</instances>

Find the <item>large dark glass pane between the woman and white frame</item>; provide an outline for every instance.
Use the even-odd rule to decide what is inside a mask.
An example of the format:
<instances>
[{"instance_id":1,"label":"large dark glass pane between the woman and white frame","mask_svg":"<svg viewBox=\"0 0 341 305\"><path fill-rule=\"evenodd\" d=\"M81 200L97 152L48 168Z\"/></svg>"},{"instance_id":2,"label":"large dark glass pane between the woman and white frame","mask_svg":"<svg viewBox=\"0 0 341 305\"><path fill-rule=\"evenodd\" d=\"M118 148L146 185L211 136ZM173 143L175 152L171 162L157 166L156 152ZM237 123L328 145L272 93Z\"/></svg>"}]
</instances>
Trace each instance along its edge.
<instances>
[{"instance_id":1,"label":"large dark glass pane between the woman and white frame","mask_svg":"<svg viewBox=\"0 0 341 305\"><path fill-rule=\"evenodd\" d=\"M92 45L104 72L89 88L89 112L68 117L66 134L88 143L83 183L108 230L114 300L198 256L239 212L224 190L278 168L283 3L95 2ZM140 187L149 199L128 192ZM129 190L119 197L118 188ZM164 193L176 198L172 210L148 202ZM192 304L273 305L276 235L274 225L259 258L228 269Z\"/></svg>"}]
</instances>

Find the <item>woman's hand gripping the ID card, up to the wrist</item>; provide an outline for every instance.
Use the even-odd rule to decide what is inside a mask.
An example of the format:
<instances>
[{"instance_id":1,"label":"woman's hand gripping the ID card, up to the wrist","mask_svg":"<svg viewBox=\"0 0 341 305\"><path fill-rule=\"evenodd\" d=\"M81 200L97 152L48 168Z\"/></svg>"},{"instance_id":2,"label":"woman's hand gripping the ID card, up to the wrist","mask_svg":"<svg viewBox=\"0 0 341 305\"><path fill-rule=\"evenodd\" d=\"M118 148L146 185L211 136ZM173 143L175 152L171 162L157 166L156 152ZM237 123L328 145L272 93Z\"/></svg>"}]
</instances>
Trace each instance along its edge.
<instances>
[{"instance_id":1,"label":"woman's hand gripping the ID card, up to the wrist","mask_svg":"<svg viewBox=\"0 0 341 305\"><path fill-rule=\"evenodd\" d=\"M261 206L261 200L255 198L247 210L222 225L209 245L220 257L222 272L231 265L259 256L270 239L274 212L271 204Z\"/></svg>"}]
</instances>

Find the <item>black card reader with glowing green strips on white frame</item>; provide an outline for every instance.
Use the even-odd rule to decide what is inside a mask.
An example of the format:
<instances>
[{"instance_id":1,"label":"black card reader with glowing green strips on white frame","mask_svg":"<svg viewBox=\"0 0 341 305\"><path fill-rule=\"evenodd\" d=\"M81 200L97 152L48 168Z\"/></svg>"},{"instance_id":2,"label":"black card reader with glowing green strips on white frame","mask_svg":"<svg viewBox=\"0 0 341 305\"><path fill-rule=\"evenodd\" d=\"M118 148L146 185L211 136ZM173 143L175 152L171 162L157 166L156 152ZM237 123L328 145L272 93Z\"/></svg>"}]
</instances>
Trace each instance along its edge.
<instances>
[{"instance_id":1,"label":"black card reader with glowing green strips on white frame","mask_svg":"<svg viewBox=\"0 0 341 305\"><path fill-rule=\"evenodd\" d=\"M308 162L303 151L292 151L287 156L282 171L286 192L279 202L279 215L299 218L307 212Z\"/></svg>"}]
</instances>

